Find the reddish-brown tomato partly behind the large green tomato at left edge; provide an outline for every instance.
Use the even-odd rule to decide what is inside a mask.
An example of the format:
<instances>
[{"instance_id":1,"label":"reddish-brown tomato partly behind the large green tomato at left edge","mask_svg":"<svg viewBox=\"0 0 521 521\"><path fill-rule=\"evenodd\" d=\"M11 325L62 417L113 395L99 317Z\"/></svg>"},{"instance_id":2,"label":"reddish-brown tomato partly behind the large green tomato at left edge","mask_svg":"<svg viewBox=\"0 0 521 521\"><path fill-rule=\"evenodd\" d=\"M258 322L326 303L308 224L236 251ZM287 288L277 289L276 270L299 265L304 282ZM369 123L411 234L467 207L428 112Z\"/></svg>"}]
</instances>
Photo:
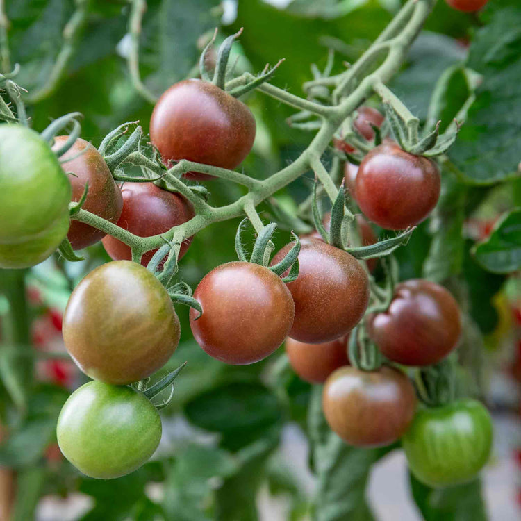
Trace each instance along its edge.
<instances>
[{"instance_id":1,"label":"reddish-brown tomato partly behind the large green tomato at left edge","mask_svg":"<svg viewBox=\"0 0 521 521\"><path fill-rule=\"evenodd\" d=\"M68 138L68 135L56 136L53 148L63 146ZM83 153L81 153L82 151ZM85 183L89 183L87 198L82 208L116 223L123 208L121 190L114 182L103 156L97 149L88 141L78 138L60 160L65 172L74 174L69 175L72 185L72 200L79 201L85 190ZM69 233L67 233L74 249L93 245L104 236L104 232L79 221L73 221Z\"/></svg>"}]
</instances>

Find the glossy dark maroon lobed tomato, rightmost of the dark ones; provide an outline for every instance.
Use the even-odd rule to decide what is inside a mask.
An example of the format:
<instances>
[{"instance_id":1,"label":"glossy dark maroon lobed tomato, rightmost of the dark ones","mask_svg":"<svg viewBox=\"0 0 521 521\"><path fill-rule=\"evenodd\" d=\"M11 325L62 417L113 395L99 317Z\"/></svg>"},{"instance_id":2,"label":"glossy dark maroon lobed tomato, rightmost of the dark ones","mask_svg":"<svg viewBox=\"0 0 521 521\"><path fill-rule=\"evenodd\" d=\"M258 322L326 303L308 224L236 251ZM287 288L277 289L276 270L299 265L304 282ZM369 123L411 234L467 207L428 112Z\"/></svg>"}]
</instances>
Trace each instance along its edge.
<instances>
[{"instance_id":1,"label":"glossy dark maroon lobed tomato, rightmost of the dark ones","mask_svg":"<svg viewBox=\"0 0 521 521\"><path fill-rule=\"evenodd\" d=\"M385 313L367 320L368 332L384 356L404 365L432 365L456 347L461 316L443 286L423 279L399 284Z\"/></svg>"}]
</instances>

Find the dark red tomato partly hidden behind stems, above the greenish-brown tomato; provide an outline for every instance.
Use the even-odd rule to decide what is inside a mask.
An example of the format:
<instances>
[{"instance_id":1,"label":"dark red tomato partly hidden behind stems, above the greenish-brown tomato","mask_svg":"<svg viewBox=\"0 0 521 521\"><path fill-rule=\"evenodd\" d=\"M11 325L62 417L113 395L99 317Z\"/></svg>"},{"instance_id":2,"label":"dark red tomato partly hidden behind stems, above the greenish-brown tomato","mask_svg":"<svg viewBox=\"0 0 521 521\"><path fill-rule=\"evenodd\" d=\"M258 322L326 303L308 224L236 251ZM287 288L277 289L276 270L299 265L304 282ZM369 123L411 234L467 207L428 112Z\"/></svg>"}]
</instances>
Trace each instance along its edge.
<instances>
[{"instance_id":1,"label":"dark red tomato partly hidden behind stems, above the greenish-brown tomato","mask_svg":"<svg viewBox=\"0 0 521 521\"><path fill-rule=\"evenodd\" d=\"M123 211L117 225L140 237L165 233L195 215L190 201L181 194L161 190L154 183L124 183L121 191ZM183 258L190 242L191 237L183 241L179 259ZM129 261L132 258L130 247L112 235L104 238L103 245L115 261ZM147 251L141 258L142 265L146 266L156 251Z\"/></svg>"}]
</instances>

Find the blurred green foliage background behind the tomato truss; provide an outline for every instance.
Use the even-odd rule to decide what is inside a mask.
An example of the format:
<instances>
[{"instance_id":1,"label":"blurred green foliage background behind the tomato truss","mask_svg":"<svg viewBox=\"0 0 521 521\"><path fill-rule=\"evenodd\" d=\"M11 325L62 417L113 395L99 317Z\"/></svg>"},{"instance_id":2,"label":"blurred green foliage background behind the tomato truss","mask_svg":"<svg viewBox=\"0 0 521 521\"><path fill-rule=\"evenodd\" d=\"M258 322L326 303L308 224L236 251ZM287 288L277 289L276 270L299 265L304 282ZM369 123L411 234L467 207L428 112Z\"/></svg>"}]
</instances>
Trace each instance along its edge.
<instances>
[{"instance_id":1,"label":"blurred green foliage background behind the tomato truss","mask_svg":"<svg viewBox=\"0 0 521 521\"><path fill-rule=\"evenodd\" d=\"M28 90L28 97L41 98L28 106L35 129L79 110L84 115L82 137L94 145L122 122L140 121L148 131L152 105L135 90L126 65L131 48L129 2L4 3L11 60L22 67L17 83ZM342 70L344 62L356 60L376 38L401 2L146 3L140 72L147 88L159 95L172 83L197 76L199 53L216 26L221 29L220 40L245 28L233 49L237 74L258 72L266 63L286 58L272 82L302 94L302 83L312 77L311 63L323 69L332 48L334 70ZM67 41L64 28L71 19L81 30ZM60 74L56 74L58 57L66 58ZM57 81L49 83L53 77ZM397 258L402 279L426 276L447 284L457 295L467 324L460 350L463 377L474 394L488 397L492 406L502 406L488 396L490 367L497 367L499 359L518 378L521 373L513 340L519 326L516 317L518 321L520 317L519 279L509 275L520 265L520 215L507 215L521 200L518 0L491 0L480 15L464 15L438 1L391 87L423 122L439 118L442 126L456 117L469 96L475 97L468 121L443 165L438 207L408 246L397 251ZM292 110L278 101L259 93L249 94L245 101L256 117L258 135L243 169L263 179L295 159L311 135L286 124ZM377 106L377 100L369 103ZM308 195L311 181L310 173L282 190L277 195L279 204L294 212ZM242 193L242 188L223 181L207 184L212 204L225 204ZM269 206L261 209L268 218ZM504 221L498 223L501 218ZM197 234L181 263L183 280L195 287L213 267L234 260L237 224L236 220L219 223ZM490 240L476 247L491 231ZM287 231L279 231L275 240L283 245ZM300 519L310 512L311 498L277 452L288 422L296 422L308 433L313 447L315 518L373 518L365 497L367 477L372 465L395 447L360 450L340 443L326 429L317 407L317 390L288 369L282 350L247 367L229 367L210 358L191 337L188 312L181 307L181 345L167 367L183 361L188 361L188 367L176 381L174 401L162 411L165 434L154 460L113 481L78 474L60 456L54 433L68 390L84 379L64 361L60 315L77 281L105 261L108 256L99 244L86 252L81 263L54 258L30 271L0 274L0 411L5 431L0 465L6 483L15 476L15 520L33 518L44 495L67 497L75 492L91 498L84 520L255 520L256 494L266 485L272 495L289 498L288 519ZM495 363L488 364L487 372L483 367L490 360ZM415 480L411 485L413 499L427 520L486 519L479 482L444 490L435 503L431 490Z\"/></svg>"}]
</instances>

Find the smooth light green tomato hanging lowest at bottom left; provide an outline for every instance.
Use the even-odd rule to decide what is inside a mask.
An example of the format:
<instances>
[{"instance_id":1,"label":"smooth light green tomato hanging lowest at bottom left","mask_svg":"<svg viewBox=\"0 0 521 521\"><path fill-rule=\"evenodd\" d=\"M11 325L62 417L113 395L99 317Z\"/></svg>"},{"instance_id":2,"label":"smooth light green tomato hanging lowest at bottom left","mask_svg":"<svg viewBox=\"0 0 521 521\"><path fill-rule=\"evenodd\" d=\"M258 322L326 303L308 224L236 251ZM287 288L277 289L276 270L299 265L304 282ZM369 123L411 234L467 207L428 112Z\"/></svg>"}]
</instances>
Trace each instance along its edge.
<instances>
[{"instance_id":1,"label":"smooth light green tomato hanging lowest at bottom left","mask_svg":"<svg viewBox=\"0 0 521 521\"><path fill-rule=\"evenodd\" d=\"M58 417L58 445L83 474L113 479L146 463L161 439L161 419L130 387L90 381L69 396Z\"/></svg>"}]
</instances>

